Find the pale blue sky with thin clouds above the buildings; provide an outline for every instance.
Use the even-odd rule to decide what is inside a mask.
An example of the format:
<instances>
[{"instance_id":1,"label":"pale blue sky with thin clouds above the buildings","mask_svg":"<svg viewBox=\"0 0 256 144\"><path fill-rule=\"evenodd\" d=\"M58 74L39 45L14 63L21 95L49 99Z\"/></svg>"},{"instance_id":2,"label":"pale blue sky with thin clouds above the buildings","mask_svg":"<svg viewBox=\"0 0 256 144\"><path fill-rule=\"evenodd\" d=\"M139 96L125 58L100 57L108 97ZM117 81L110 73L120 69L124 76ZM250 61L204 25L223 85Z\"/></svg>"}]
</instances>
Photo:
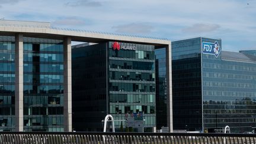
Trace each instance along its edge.
<instances>
[{"instance_id":1,"label":"pale blue sky with thin clouds above the buildings","mask_svg":"<svg viewBox=\"0 0 256 144\"><path fill-rule=\"evenodd\" d=\"M0 18L54 27L164 37L222 39L223 50L255 50L256 0L0 0Z\"/></svg>"}]
</instances>

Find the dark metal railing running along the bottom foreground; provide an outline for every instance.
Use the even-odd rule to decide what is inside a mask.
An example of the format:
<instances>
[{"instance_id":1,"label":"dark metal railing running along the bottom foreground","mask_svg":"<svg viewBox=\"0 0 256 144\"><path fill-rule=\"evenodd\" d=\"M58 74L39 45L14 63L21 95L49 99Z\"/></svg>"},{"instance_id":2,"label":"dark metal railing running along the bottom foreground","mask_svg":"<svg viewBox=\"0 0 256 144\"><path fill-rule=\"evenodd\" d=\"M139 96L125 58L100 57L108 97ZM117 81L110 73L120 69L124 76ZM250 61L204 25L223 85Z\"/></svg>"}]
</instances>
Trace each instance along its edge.
<instances>
[{"instance_id":1,"label":"dark metal railing running along the bottom foreground","mask_svg":"<svg viewBox=\"0 0 256 144\"><path fill-rule=\"evenodd\" d=\"M0 132L0 143L255 143L254 134Z\"/></svg>"}]
</instances>

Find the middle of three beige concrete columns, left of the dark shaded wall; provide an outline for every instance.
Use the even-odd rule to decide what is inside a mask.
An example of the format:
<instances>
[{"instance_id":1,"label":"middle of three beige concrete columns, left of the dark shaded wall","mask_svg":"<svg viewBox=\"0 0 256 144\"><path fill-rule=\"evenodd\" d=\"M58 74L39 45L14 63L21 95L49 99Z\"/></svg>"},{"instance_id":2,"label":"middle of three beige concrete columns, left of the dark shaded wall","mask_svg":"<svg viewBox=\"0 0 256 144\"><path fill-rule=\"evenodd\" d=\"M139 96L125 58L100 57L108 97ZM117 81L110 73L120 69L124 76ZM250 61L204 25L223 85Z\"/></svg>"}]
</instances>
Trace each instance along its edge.
<instances>
[{"instance_id":1,"label":"middle of three beige concrete columns, left of the dark shaded wall","mask_svg":"<svg viewBox=\"0 0 256 144\"><path fill-rule=\"evenodd\" d=\"M63 39L64 53L64 131L72 132L71 37Z\"/></svg>"}]
</instances>

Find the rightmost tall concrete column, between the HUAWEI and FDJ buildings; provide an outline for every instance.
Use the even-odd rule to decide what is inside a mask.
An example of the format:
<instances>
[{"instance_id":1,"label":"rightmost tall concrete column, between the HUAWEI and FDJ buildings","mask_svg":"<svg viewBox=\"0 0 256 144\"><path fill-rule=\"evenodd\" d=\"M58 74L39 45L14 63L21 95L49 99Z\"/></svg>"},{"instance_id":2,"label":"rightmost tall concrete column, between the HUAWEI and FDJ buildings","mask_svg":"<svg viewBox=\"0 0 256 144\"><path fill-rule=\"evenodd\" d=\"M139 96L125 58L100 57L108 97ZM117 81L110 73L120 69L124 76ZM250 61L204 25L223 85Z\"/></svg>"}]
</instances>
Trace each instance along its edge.
<instances>
[{"instance_id":1,"label":"rightmost tall concrete column, between the HUAWEI and FDJ buildings","mask_svg":"<svg viewBox=\"0 0 256 144\"><path fill-rule=\"evenodd\" d=\"M171 43L166 47L166 65L167 65L167 126L169 132L173 132L172 121L172 58L171 58Z\"/></svg>"}]
</instances>

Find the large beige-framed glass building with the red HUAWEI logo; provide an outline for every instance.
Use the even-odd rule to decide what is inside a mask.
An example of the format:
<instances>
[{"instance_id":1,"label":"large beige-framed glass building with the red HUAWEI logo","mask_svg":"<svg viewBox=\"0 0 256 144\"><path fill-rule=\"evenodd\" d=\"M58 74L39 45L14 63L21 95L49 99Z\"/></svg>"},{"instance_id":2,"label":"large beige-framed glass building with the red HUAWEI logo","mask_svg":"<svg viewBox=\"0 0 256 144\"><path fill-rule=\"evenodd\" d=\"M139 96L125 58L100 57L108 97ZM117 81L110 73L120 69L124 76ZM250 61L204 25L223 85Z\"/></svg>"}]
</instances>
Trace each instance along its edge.
<instances>
[{"instance_id":1,"label":"large beige-framed glass building with the red HUAWEI logo","mask_svg":"<svg viewBox=\"0 0 256 144\"><path fill-rule=\"evenodd\" d=\"M74 41L83 44L72 46ZM0 131L102 132L101 121L111 114L116 130L123 124L151 132L155 49L163 47L172 132L171 41L1 20Z\"/></svg>"}]
</instances>

